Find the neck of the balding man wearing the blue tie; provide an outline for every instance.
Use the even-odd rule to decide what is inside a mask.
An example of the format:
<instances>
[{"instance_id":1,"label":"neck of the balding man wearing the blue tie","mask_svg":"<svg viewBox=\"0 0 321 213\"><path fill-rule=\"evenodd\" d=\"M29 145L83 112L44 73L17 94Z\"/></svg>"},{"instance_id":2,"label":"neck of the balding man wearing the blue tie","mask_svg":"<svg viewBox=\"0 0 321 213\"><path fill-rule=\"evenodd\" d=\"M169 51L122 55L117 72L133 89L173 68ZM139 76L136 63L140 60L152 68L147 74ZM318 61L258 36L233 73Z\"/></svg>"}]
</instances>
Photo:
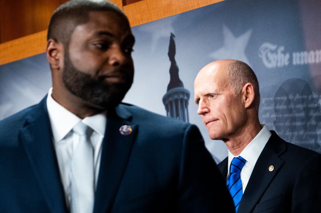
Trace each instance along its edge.
<instances>
[{"instance_id":1,"label":"neck of the balding man wearing the blue tie","mask_svg":"<svg viewBox=\"0 0 321 213\"><path fill-rule=\"evenodd\" d=\"M233 155L239 155L243 149L256 137L261 131L262 126L258 119L254 122L249 122L245 127L239 130L231 138L227 139L225 145L230 153Z\"/></svg>"}]
</instances>

